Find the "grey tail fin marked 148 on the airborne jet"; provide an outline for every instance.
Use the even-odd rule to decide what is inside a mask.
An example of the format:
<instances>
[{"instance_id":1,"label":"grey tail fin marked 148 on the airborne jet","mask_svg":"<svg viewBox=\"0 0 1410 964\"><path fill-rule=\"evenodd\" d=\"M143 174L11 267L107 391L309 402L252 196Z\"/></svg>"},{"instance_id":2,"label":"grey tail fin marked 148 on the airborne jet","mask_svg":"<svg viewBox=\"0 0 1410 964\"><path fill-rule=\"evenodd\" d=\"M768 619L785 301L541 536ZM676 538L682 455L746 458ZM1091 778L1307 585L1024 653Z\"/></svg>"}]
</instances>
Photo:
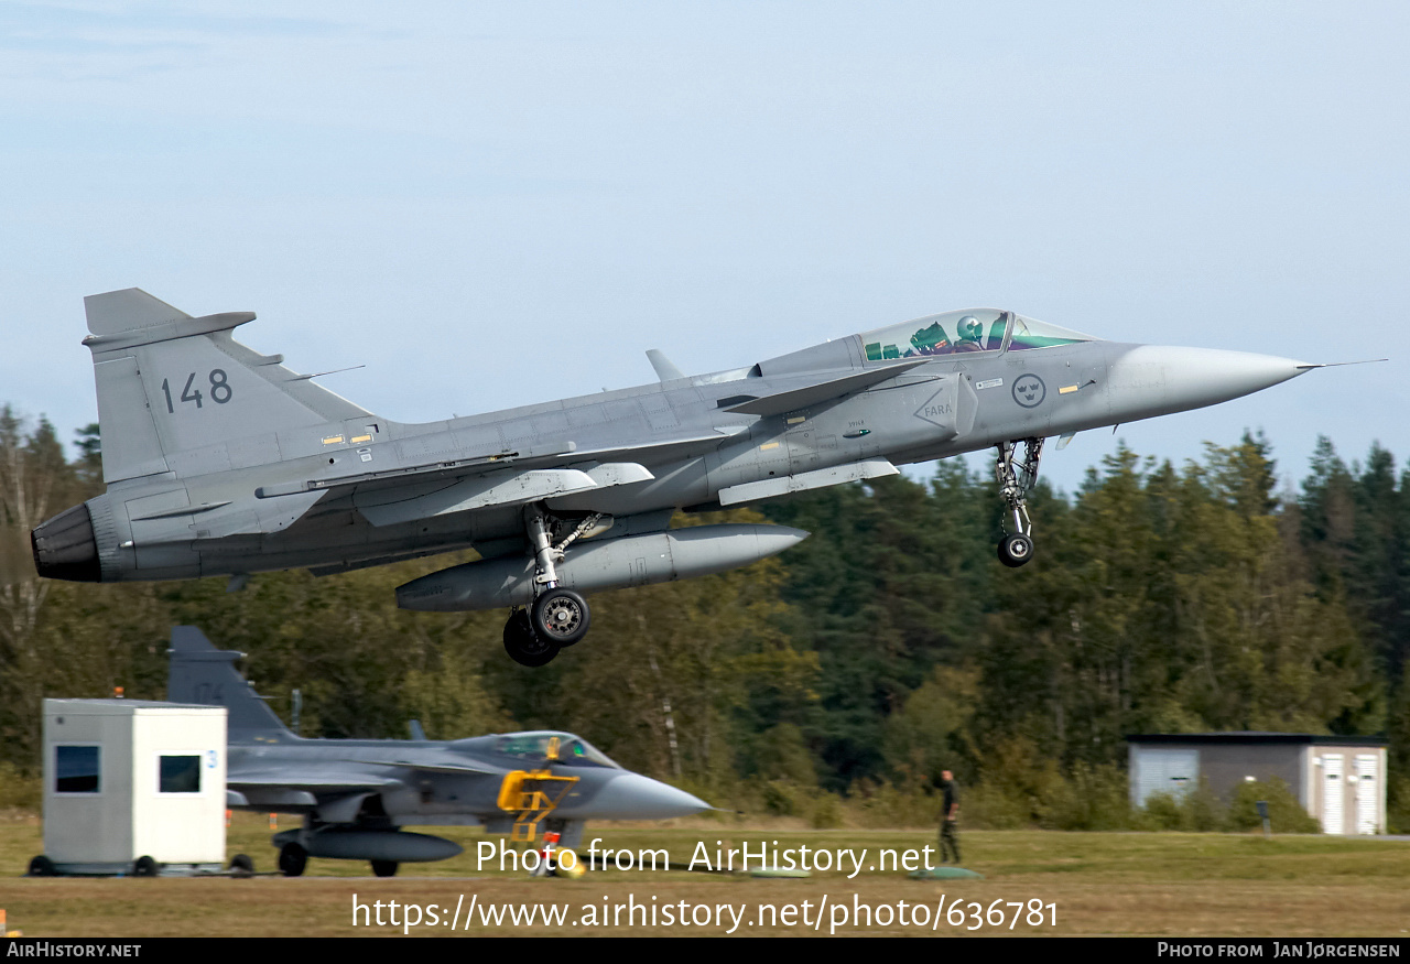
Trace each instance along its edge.
<instances>
[{"instance_id":1,"label":"grey tail fin marked 148 on the airborne jet","mask_svg":"<svg viewBox=\"0 0 1410 964\"><path fill-rule=\"evenodd\" d=\"M275 433L368 419L364 409L235 341L252 311L193 319L140 288L83 299L103 481L278 461ZM361 426L360 426L361 428Z\"/></svg>"}]
</instances>

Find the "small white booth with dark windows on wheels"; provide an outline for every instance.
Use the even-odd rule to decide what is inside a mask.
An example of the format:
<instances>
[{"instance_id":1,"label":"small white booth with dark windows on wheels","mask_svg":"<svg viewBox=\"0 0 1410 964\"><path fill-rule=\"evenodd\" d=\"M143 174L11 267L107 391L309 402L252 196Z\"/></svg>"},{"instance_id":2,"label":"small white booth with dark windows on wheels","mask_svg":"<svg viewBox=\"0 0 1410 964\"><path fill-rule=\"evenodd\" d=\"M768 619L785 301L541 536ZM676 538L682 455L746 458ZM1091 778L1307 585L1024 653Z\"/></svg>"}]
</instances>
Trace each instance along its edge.
<instances>
[{"instance_id":1,"label":"small white booth with dark windows on wheels","mask_svg":"<svg viewBox=\"0 0 1410 964\"><path fill-rule=\"evenodd\" d=\"M31 874L206 874L226 860L226 707L44 700Z\"/></svg>"}]
</instances>

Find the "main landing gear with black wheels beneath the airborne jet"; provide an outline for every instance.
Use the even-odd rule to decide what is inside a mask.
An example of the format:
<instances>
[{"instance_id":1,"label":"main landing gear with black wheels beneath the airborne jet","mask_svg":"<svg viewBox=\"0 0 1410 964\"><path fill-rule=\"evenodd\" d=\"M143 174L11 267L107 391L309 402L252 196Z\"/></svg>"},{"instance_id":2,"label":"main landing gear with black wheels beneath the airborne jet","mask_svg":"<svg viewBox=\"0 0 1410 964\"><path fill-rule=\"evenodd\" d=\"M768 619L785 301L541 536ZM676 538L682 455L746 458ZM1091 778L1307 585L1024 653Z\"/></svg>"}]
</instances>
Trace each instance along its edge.
<instances>
[{"instance_id":1,"label":"main landing gear with black wheels beneath the airborne jet","mask_svg":"<svg viewBox=\"0 0 1410 964\"><path fill-rule=\"evenodd\" d=\"M505 653L523 667L541 667L565 645L572 645L588 634L592 610L588 600L572 589L558 585L557 564L563 551L580 536L598 524L601 516L584 519L568 536L554 544L548 537L548 514L543 506L525 510L525 529L533 545L536 572L534 600L527 609L515 609L505 623Z\"/></svg>"}]
</instances>

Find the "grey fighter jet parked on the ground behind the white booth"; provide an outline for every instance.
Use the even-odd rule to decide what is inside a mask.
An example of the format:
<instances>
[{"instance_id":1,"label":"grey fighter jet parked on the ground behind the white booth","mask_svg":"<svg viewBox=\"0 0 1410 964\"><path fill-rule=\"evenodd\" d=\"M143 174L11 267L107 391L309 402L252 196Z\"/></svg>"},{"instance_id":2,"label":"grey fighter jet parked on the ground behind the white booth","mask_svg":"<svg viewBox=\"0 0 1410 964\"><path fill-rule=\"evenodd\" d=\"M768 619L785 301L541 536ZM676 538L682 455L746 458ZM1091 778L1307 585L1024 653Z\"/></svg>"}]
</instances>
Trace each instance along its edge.
<instances>
[{"instance_id":1,"label":"grey fighter jet parked on the ground behind the white booth","mask_svg":"<svg viewBox=\"0 0 1410 964\"><path fill-rule=\"evenodd\" d=\"M368 860L378 877L398 864L461 851L405 826L482 826L577 847L587 820L664 820L712 809L685 791L633 774L571 733L501 733L468 740L305 740L290 733L195 626L172 629L166 699L230 710L227 805L298 813L303 826L274 837L279 870L303 874L309 857Z\"/></svg>"}]
</instances>

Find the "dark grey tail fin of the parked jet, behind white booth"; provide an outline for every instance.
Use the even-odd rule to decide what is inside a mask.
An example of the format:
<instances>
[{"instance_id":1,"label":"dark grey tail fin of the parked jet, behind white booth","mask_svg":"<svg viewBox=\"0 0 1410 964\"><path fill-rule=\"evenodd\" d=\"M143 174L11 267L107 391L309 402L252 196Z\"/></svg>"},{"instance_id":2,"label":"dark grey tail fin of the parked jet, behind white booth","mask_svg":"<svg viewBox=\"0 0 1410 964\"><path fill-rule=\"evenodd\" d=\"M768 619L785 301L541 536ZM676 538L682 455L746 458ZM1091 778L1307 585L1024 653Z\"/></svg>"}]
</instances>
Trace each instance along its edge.
<instances>
[{"instance_id":1,"label":"dark grey tail fin of the parked jet, behind white booth","mask_svg":"<svg viewBox=\"0 0 1410 964\"><path fill-rule=\"evenodd\" d=\"M235 650L217 650L195 626L172 627L171 671L166 699L173 703L224 706L230 710L227 729L233 743L293 739L274 710L235 672Z\"/></svg>"}]
</instances>

